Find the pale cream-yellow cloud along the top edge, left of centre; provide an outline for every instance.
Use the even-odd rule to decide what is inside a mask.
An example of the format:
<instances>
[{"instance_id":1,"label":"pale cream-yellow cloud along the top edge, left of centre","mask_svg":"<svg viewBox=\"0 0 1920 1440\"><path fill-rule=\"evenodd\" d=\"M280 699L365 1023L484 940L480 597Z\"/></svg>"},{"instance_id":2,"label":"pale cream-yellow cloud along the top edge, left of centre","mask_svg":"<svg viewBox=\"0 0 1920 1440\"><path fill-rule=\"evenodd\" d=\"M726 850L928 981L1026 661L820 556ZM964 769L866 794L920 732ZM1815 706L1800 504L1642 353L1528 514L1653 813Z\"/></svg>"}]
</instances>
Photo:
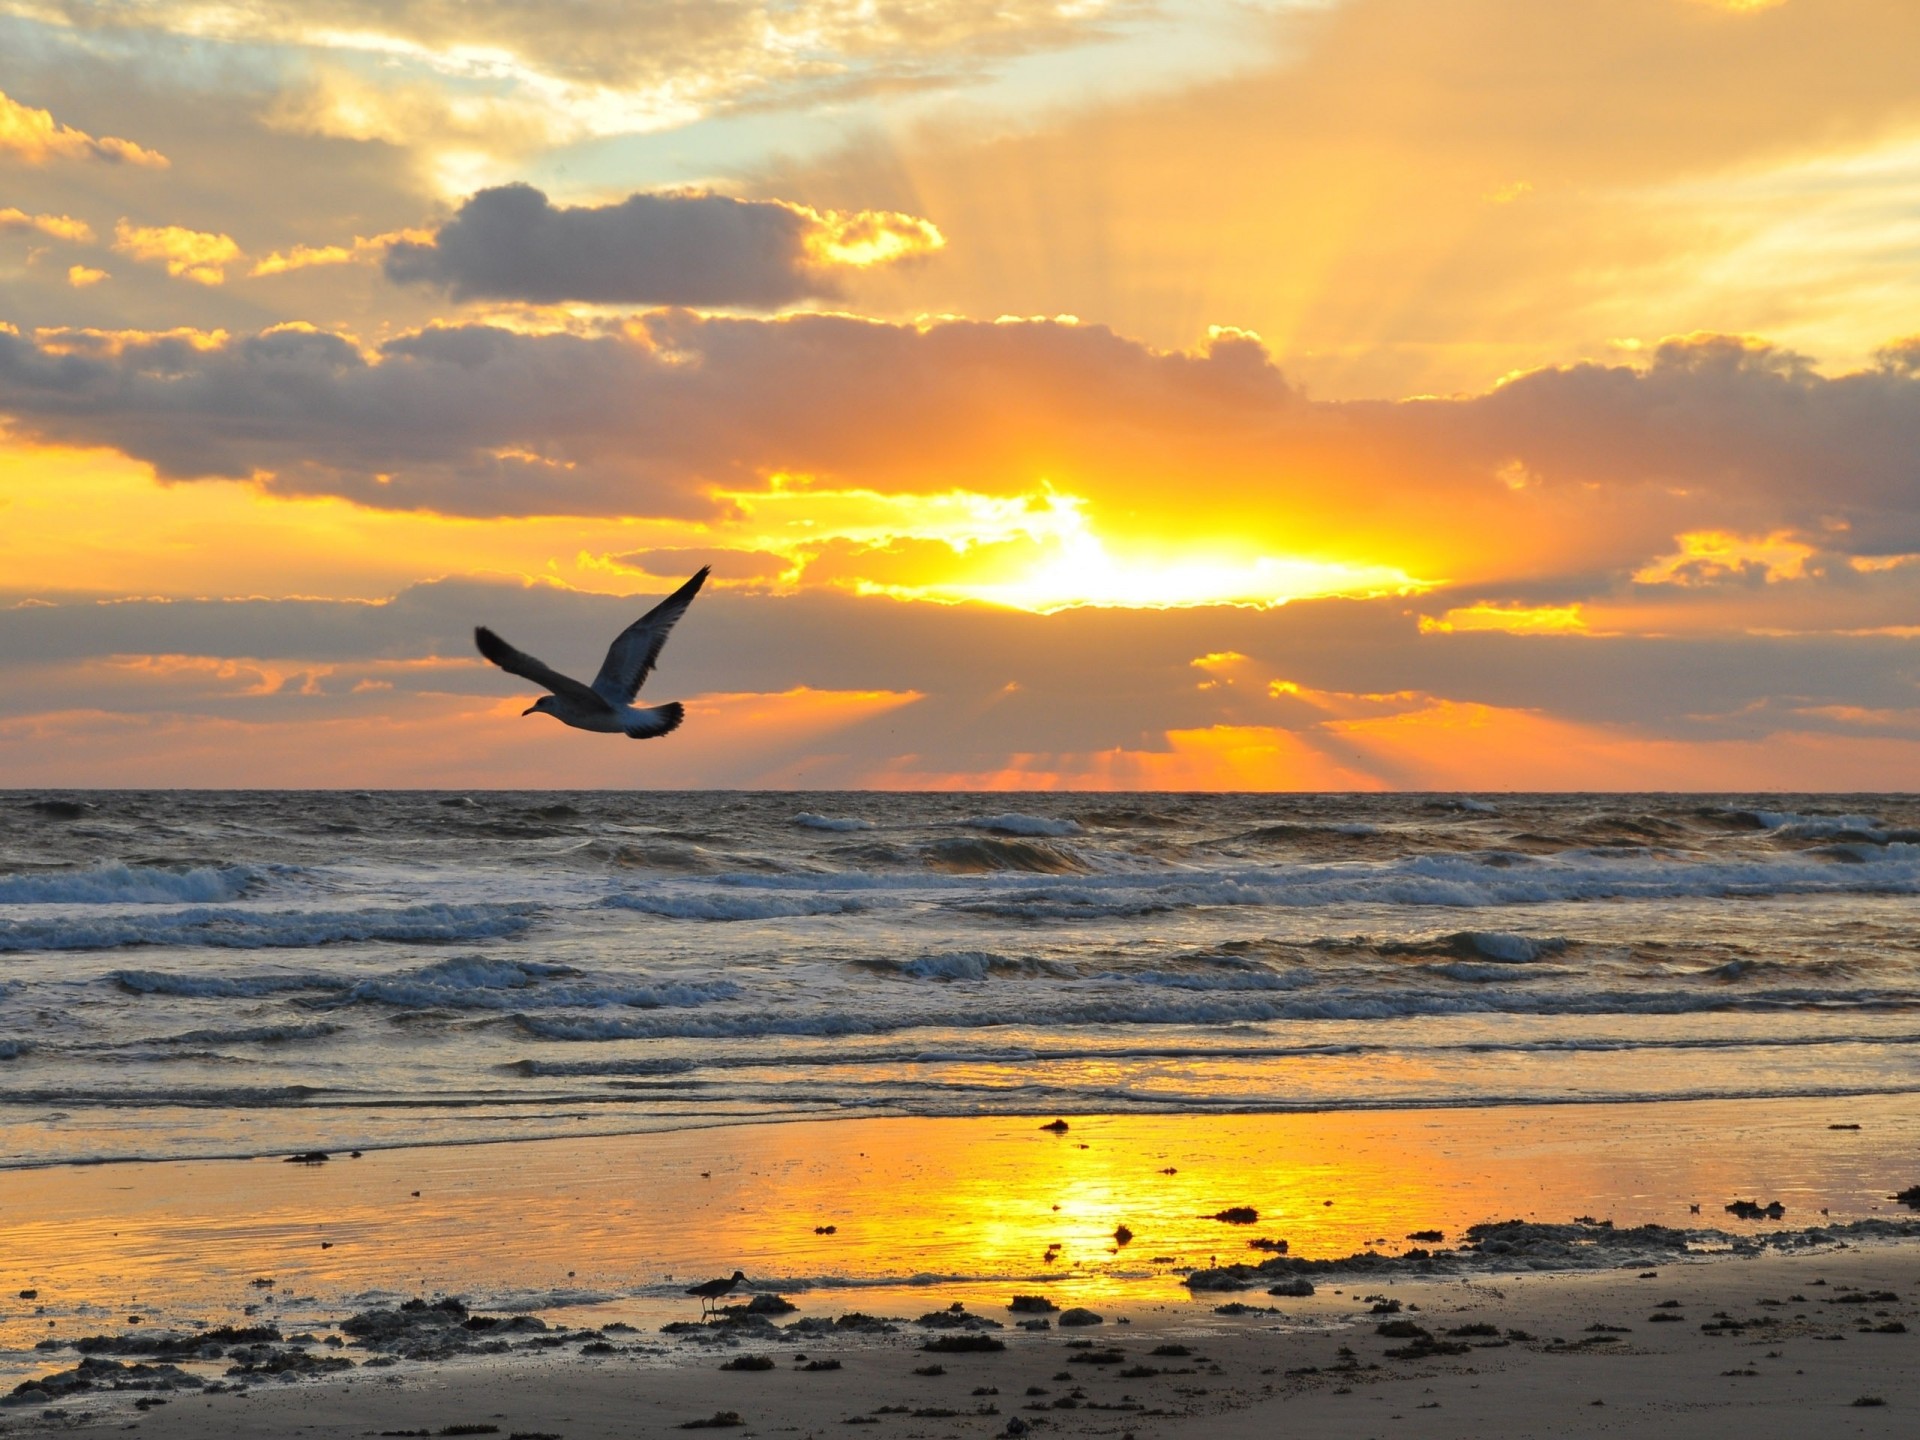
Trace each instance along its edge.
<instances>
[{"instance_id":1,"label":"pale cream-yellow cloud along the top edge, left of centre","mask_svg":"<svg viewBox=\"0 0 1920 1440\"><path fill-rule=\"evenodd\" d=\"M12 6L15 12L23 6ZM634 6L576 0L564 15L518 0L252 0L205 6L152 0L33 0L27 13L75 31L146 31L202 46L282 46L380 65L419 96L415 117L438 109L463 123L474 109L543 115L553 138L616 134L684 123L701 113L872 90L925 88L972 77L991 61L1098 38L1110 0L703 0ZM348 71L351 73L351 71ZM390 94L392 81L382 86ZM315 121L367 127L367 106L328 106ZM411 138L419 138L413 131Z\"/></svg>"}]
</instances>

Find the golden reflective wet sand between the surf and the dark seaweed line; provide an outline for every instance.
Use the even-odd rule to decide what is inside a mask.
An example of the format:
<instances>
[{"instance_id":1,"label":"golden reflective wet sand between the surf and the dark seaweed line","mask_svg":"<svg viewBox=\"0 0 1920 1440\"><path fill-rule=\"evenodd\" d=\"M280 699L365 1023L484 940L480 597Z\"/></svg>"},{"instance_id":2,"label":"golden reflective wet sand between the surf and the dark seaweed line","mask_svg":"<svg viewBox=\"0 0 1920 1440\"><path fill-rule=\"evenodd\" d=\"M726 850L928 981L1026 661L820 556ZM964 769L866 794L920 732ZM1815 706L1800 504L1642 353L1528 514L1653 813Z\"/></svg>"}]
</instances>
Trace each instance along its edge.
<instances>
[{"instance_id":1,"label":"golden reflective wet sand between the surf and the dark seaweed line","mask_svg":"<svg viewBox=\"0 0 1920 1440\"><path fill-rule=\"evenodd\" d=\"M31 1346L48 1319L69 1334L129 1313L217 1323L248 1304L311 1325L367 1290L518 1290L536 1308L570 1292L601 1298L582 1315L659 1323L685 1308L680 1286L733 1265L791 1283L812 1313L1004 1304L1010 1286L1037 1284L1062 1304L1167 1302L1185 1298L1185 1267L1260 1260L1260 1236L1323 1258L1400 1252L1427 1229L1453 1242L1505 1217L1740 1229L1722 1213L1732 1198L1778 1198L1793 1227L1822 1208L1895 1212L1885 1196L1912 1183L1920 1150L1910 1096L1071 1117L1066 1133L1043 1119L12 1171L0 1344ZM1229 1206L1260 1221L1210 1219ZM643 1286L657 1294L636 1296ZM38 1296L17 1300L21 1288Z\"/></svg>"}]
</instances>

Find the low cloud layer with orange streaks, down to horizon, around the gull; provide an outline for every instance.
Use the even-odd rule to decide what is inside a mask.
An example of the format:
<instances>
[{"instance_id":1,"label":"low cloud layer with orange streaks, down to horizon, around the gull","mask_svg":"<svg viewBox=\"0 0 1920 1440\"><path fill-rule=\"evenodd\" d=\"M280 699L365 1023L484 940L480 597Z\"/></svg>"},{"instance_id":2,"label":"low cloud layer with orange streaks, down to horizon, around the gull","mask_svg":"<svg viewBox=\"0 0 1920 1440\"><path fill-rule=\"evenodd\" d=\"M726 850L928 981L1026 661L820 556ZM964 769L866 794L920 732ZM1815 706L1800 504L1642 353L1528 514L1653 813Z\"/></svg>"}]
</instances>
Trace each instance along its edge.
<instances>
[{"instance_id":1,"label":"low cloud layer with orange streaks, down to horizon, around the gull","mask_svg":"<svg viewBox=\"0 0 1920 1440\"><path fill-rule=\"evenodd\" d=\"M528 785L1920 783L1920 641L1903 637L1421 634L1398 601L1041 616L722 589L651 685L689 701L695 743L651 756L522 722L524 684L470 655L484 620L591 668L597 637L649 603L447 580L371 605L0 609L0 764L21 783L267 783L273 766L280 783L397 783L409 762L468 783L495 758L490 783ZM121 724L154 743L96 743ZM436 726L468 739L436 751ZM323 741L324 764L300 758Z\"/></svg>"}]
</instances>

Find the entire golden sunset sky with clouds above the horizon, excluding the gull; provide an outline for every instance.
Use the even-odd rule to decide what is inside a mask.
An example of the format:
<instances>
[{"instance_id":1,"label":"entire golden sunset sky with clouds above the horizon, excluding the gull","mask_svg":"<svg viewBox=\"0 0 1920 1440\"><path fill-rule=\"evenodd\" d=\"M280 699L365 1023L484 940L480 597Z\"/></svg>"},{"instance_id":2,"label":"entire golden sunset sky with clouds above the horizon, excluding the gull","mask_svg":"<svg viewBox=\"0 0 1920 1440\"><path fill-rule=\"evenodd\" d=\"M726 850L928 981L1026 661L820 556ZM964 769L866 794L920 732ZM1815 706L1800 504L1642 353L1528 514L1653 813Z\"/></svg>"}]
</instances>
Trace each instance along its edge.
<instances>
[{"instance_id":1,"label":"entire golden sunset sky with clouds above the horizon, excluding the gull","mask_svg":"<svg viewBox=\"0 0 1920 1440\"><path fill-rule=\"evenodd\" d=\"M1920 789L1916 54L0 0L0 787Z\"/></svg>"}]
</instances>

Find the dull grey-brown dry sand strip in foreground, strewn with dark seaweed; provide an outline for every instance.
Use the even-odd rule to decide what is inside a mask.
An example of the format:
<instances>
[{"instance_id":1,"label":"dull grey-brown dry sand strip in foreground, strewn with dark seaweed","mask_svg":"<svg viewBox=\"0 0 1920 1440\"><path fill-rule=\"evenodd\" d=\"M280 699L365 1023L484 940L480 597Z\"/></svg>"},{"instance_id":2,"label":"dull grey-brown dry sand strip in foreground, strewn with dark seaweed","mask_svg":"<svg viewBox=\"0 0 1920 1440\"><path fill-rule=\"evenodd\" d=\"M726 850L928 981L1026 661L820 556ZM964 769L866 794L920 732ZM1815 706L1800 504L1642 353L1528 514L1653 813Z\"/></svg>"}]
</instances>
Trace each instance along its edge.
<instances>
[{"instance_id":1,"label":"dull grey-brown dry sand strip in foreground, strewn with dark seaweed","mask_svg":"<svg viewBox=\"0 0 1920 1440\"><path fill-rule=\"evenodd\" d=\"M1857 1298L1876 1294L1897 1298ZM1373 1313L1375 1296L1402 1309ZM1311 1300L1236 1296L1283 1313L1213 1313L1231 1298L1123 1306L1098 1327L1046 1332L1014 1329L1018 1317L1002 1309L993 1317L1008 1329L973 1332L1006 1342L991 1354L929 1354L931 1338L968 1332L918 1325L739 1346L611 1332L612 1354L584 1356L570 1342L541 1354L359 1369L348 1379L265 1380L244 1394L154 1394L163 1404L146 1411L134 1409L134 1394L121 1394L84 1407L69 1402L69 1413L56 1417L13 1407L0 1411L0 1425L6 1434L132 1428L156 1440L394 1432L634 1440L691 1434L687 1421L735 1411L741 1425L726 1434L843 1436L872 1425L879 1436L1797 1440L1912 1434L1920 1413L1916 1244L1668 1263L1653 1275L1325 1281ZM1409 1338L1379 1334L1392 1321L1442 1342L1461 1327L1494 1327L1498 1336L1459 1336L1453 1344L1471 1346L1461 1354L1394 1357L1388 1352ZM1511 1338L1513 1331L1534 1338ZM1165 1348L1190 1354L1154 1354ZM774 1367L720 1369L737 1356L768 1356ZM801 1356L839 1367L808 1371ZM943 1373L918 1373L929 1365ZM1884 1404L1857 1405L1862 1398Z\"/></svg>"}]
</instances>

